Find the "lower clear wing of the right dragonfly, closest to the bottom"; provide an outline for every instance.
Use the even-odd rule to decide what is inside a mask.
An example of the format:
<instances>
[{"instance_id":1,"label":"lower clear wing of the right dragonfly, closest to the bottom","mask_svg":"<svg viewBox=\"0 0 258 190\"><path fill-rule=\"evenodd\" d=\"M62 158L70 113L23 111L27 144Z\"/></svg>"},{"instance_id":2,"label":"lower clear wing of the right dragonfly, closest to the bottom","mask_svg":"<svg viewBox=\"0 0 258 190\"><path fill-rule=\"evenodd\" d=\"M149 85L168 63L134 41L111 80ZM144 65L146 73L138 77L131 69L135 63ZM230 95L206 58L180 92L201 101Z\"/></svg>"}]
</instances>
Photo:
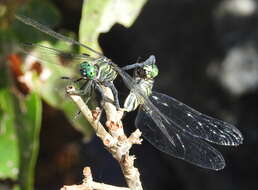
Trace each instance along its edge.
<instances>
[{"instance_id":1,"label":"lower clear wing of the right dragonfly, closest to the bottom","mask_svg":"<svg viewBox=\"0 0 258 190\"><path fill-rule=\"evenodd\" d=\"M171 128L171 123L155 112L139 109L135 124L154 147L170 156L212 170L225 167L222 155L215 148L182 130Z\"/></svg>"}]
</instances>

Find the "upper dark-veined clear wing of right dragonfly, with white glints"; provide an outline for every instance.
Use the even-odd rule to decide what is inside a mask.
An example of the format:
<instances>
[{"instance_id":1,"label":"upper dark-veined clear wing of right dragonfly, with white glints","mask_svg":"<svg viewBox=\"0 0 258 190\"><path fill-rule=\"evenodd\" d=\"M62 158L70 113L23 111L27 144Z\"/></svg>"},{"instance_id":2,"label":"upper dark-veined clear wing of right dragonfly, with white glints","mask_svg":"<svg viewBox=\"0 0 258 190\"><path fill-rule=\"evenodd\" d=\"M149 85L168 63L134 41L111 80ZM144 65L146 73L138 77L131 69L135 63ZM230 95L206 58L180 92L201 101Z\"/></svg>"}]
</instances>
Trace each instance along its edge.
<instances>
[{"instance_id":1,"label":"upper dark-veined clear wing of right dragonfly, with white glints","mask_svg":"<svg viewBox=\"0 0 258 190\"><path fill-rule=\"evenodd\" d=\"M162 93L153 92L149 98L169 120L192 136L227 146L237 146L243 142L241 132L229 123L202 114ZM169 126L167 130L170 130Z\"/></svg>"}]
</instances>

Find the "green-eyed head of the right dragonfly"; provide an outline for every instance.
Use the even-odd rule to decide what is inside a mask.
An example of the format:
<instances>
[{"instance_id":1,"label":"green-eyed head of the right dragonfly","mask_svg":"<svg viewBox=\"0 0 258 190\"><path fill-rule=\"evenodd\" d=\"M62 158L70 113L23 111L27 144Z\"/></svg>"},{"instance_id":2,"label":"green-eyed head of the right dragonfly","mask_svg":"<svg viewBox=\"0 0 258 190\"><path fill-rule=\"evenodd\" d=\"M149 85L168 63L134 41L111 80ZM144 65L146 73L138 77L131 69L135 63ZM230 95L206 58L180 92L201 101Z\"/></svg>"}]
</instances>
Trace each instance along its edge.
<instances>
[{"instance_id":1,"label":"green-eyed head of the right dragonfly","mask_svg":"<svg viewBox=\"0 0 258 190\"><path fill-rule=\"evenodd\" d=\"M156 64L145 65L135 70L135 76L143 79L154 79L158 74L159 69Z\"/></svg>"}]
</instances>

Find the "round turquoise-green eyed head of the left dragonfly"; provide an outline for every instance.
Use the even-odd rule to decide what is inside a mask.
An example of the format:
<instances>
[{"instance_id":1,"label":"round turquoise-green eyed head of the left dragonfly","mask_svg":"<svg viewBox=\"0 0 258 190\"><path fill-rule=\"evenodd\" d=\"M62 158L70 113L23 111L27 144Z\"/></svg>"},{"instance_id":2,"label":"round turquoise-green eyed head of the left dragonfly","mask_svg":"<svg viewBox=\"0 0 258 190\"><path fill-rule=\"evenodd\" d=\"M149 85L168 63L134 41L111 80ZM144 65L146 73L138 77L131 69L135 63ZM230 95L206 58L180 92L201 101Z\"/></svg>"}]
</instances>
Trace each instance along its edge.
<instances>
[{"instance_id":1,"label":"round turquoise-green eyed head of the left dragonfly","mask_svg":"<svg viewBox=\"0 0 258 190\"><path fill-rule=\"evenodd\" d=\"M83 78L93 80L97 76L97 68L87 61L80 64L80 73Z\"/></svg>"}]
</instances>

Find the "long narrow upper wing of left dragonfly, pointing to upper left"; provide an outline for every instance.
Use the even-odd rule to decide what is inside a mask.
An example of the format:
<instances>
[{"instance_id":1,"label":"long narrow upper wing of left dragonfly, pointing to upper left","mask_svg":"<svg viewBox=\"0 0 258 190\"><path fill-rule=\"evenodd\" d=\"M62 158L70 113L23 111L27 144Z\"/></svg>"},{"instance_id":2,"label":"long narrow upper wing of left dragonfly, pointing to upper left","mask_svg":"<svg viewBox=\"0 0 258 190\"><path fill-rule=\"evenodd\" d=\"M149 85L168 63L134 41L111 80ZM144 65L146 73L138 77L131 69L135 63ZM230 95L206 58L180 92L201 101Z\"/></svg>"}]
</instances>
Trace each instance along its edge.
<instances>
[{"instance_id":1,"label":"long narrow upper wing of left dragonfly, pointing to upper left","mask_svg":"<svg viewBox=\"0 0 258 190\"><path fill-rule=\"evenodd\" d=\"M23 16L23 15L15 15L16 19L18 19L19 21L23 22L24 24L27 24L27 25L30 25L38 30L40 30L41 32L44 32L56 39L59 39L59 40L64 40L70 44L75 44L75 45L79 45L79 46L82 46L88 50L90 50L91 52L95 53L96 55L98 56L101 56L101 57L104 57L102 53L100 52L97 52L95 51L94 49L86 46L85 44L82 44L72 38L68 38L66 36L63 36L62 34L59 34L57 32L55 32L54 30L50 29L49 27L43 25L43 24L40 24L38 23L37 21L29 18L29 17L26 17L26 16Z\"/></svg>"}]
</instances>

